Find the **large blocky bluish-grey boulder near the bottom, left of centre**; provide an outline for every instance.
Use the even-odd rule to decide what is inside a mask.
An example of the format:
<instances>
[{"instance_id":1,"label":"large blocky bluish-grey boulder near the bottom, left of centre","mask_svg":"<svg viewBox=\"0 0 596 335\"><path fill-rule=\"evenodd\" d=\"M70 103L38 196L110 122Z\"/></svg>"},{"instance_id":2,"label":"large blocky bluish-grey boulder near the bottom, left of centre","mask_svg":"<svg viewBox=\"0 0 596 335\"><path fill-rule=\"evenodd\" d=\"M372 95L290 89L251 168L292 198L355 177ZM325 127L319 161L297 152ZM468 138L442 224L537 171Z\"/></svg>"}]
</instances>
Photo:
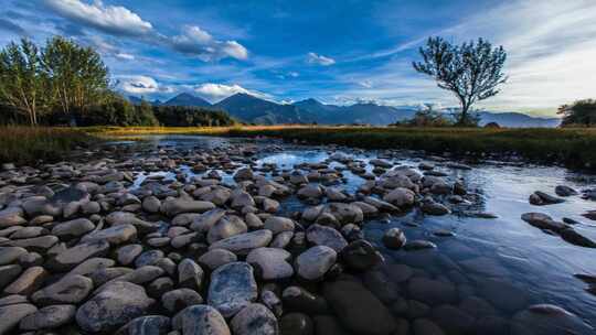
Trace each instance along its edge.
<instances>
[{"instance_id":1,"label":"large blocky bluish-grey boulder near the bottom, left of centre","mask_svg":"<svg viewBox=\"0 0 596 335\"><path fill-rule=\"evenodd\" d=\"M256 299L257 284L248 263L228 263L211 274L207 302L225 317L233 316Z\"/></svg>"}]
</instances>

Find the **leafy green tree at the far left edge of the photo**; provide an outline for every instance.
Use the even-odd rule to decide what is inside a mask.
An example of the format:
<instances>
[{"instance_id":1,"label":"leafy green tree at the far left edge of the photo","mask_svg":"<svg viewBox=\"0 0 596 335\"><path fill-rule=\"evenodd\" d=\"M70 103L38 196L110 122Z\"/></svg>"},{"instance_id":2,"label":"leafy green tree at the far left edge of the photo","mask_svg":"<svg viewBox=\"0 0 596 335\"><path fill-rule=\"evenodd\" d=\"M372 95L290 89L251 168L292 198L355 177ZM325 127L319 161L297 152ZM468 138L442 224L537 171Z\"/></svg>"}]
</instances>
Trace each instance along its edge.
<instances>
[{"instance_id":1,"label":"leafy green tree at the far left edge of the photo","mask_svg":"<svg viewBox=\"0 0 596 335\"><path fill-rule=\"evenodd\" d=\"M38 115L47 102L46 83L33 42L22 39L0 51L0 100L24 114L31 126L38 125Z\"/></svg>"}]
</instances>

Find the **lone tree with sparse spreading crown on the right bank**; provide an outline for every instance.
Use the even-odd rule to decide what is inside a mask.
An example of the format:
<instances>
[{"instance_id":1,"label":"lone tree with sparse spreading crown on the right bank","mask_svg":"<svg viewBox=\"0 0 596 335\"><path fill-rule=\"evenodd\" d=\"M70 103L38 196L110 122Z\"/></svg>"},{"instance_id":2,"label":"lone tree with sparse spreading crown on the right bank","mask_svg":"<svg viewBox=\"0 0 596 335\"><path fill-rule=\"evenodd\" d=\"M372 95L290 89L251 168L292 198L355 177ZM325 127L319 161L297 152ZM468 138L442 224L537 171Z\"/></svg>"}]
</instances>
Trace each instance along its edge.
<instances>
[{"instance_id":1,"label":"lone tree with sparse spreading crown on the right bank","mask_svg":"<svg viewBox=\"0 0 596 335\"><path fill-rule=\"evenodd\" d=\"M438 87L456 95L461 106L457 117L459 126L469 125L473 104L498 95L497 87L507 82L505 51L502 46L493 48L482 39L453 45L441 37L429 37L419 53L423 62L413 62L414 69L432 76Z\"/></svg>"}]
</instances>

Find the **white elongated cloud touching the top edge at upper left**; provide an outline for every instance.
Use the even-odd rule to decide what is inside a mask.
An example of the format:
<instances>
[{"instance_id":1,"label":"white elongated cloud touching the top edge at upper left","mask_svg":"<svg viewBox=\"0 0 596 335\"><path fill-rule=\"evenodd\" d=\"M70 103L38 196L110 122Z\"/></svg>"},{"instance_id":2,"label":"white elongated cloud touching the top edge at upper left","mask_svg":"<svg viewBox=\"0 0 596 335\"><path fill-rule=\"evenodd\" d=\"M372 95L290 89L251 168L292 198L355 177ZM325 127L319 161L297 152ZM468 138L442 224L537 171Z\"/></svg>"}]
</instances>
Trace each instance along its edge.
<instances>
[{"instance_id":1,"label":"white elongated cloud touching the top edge at upper left","mask_svg":"<svg viewBox=\"0 0 596 335\"><path fill-rule=\"evenodd\" d=\"M45 0L58 14L97 30L118 35L145 35L153 28L138 14L120 6L105 6L96 0L85 3L79 0Z\"/></svg>"}]
</instances>

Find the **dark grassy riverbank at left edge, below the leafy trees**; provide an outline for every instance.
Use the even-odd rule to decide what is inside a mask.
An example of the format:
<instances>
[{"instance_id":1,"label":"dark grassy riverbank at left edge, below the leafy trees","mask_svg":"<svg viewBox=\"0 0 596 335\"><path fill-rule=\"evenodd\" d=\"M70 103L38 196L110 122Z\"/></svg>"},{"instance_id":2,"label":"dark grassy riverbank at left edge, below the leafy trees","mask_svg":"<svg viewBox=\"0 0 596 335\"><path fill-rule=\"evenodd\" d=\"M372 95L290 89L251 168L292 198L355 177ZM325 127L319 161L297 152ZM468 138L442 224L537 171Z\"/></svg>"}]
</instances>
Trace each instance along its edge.
<instances>
[{"instance_id":1,"label":"dark grassy riverbank at left edge, below the leafy trees","mask_svg":"<svg viewBox=\"0 0 596 335\"><path fill-rule=\"evenodd\" d=\"M72 128L0 127L0 163L34 164L61 160L76 148L98 141Z\"/></svg>"}]
</instances>

